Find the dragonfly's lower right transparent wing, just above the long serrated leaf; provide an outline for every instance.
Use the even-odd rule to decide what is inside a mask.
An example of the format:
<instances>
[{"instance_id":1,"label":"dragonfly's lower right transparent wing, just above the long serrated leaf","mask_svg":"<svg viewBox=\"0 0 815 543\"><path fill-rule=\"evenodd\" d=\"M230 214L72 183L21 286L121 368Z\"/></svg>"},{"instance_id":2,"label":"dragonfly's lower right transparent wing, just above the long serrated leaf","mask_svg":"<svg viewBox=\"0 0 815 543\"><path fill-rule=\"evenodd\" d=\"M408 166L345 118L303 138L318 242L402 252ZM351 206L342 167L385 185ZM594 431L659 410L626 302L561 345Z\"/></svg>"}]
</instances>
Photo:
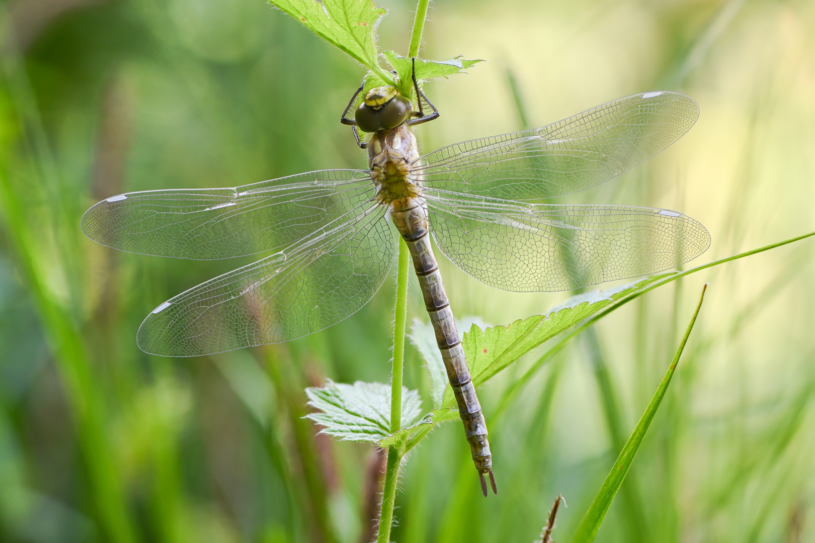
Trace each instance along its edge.
<instances>
[{"instance_id":1,"label":"dragonfly's lower right transparent wing, just above the long serrated leaf","mask_svg":"<svg viewBox=\"0 0 815 543\"><path fill-rule=\"evenodd\" d=\"M667 209L425 198L445 256L506 291L565 291L653 274L711 242L704 226Z\"/></svg>"}]
</instances>

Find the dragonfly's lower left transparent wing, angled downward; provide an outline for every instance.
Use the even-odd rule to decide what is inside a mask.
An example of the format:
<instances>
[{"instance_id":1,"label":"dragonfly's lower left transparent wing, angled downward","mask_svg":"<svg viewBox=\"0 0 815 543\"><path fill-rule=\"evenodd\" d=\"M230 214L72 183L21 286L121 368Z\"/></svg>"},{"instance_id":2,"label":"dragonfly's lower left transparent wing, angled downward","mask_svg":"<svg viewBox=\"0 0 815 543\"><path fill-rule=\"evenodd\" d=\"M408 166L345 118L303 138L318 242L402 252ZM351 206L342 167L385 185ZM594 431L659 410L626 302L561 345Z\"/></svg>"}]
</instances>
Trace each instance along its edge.
<instances>
[{"instance_id":1,"label":"dragonfly's lower left transparent wing, angled downward","mask_svg":"<svg viewBox=\"0 0 815 543\"><path fill-rule=\"evenodd\" d=\"M148 315L147 353L192 357L280 343L332 326L376 293L394 256L385 207L368 204L254 264L203 282Z\"/></svg>"}]
</instances>

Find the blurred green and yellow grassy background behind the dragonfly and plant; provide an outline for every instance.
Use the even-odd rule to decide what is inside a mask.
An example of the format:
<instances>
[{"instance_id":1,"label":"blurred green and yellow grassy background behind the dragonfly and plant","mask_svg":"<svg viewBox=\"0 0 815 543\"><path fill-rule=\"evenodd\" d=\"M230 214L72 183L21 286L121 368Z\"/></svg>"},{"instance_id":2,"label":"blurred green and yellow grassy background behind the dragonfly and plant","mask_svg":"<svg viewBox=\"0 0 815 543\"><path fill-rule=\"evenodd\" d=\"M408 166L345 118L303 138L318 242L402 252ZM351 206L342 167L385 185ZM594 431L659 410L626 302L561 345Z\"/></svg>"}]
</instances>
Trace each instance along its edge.
<instances>
[{"instance_id":1,"label":"blurred green and yellow grassy background behind the dragonfly and plant","mask_svg":"<svg viewBox=\"0 0 815 543\"><path fill-rule=\"evenodd\" d=\"M381 49L404 55L414 6L380 3ZM302 389L387 382L393 281L306 339L150 357L134 342L149 311L249 260L117 253L79 230L124 191L364 167L338 122L363 69L262 0L7 0L0 19L0 540L369 541L381 458L315 437ZM689 134L568 201L685 212L713 239L696 263L815 228L811 0L439 0L423 55L488 61L426 85L442 116L417 127L424 151L679 90L701 107ZM506 324L569 296L442 266L460 317ZM394 541L531 543L557 493L566 541L706 281L598 541L815 541L813 277L805 240L674 282L491 417L535 357L509 368L479 392L499 495L480 496L460 426L443 426L405 464ZM409 317L426 319L411 290ZM428 397L412 348L406 383Z\"/></svg>"}]
</instances>

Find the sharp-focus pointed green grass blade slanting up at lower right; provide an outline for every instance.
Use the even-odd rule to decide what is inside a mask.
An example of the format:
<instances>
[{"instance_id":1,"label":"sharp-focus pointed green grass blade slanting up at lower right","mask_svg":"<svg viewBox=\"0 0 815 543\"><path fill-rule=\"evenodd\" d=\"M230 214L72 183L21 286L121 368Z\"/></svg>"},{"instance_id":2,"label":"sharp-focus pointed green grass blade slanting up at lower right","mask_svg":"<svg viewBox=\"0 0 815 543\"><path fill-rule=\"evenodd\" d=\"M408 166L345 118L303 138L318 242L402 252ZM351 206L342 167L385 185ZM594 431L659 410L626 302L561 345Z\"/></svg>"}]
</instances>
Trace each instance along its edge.
<instances>
[{"instance_id":1,"label":"sharp-focus pointed green grass blade slanting up at lower right","mask_svg":"<svg viewBox=\"0 0 815 543\"><path fill-rule=\"evenodd\" d=\"M577 531L571 539L572 543L590 543L594 541L594 537L597 536L597 530L606 517L606 513L611 506L611 502L614 501L617 491L623 484L623 480L625 480L625 476L628 474L628 469L631 467L632 462L634 462L634 457L637 455L637 449L640 448L642 438L645 437L645 432L648 431L651 421L654 420L654 415L656 415L659 404L665 396L667 386L671 383L673 372L676 370L676 364L679 362L679 357L681 357L683 349L685 349L690 331L693 330L699 309L702 307L705 290L707 290L707 283L702 287L702 296L699 296L696 311L694 311L694 316L690 319L688 329L685 331L685 336L682 338L679 348L676 350L676 355L673 357L671 366L668 366L665 377L663 377L662 383L659 383L659 388L657 388L657 392L654 392L654 397L651 398L650 404L645 408L645 413L642 414L640 422L637 423L637 427L634 428L631 437L628 438L622 452L619 453L617 462L615 462L611 468L609 475L606 476L606 481L601 486L600 492L597 493L583 520L580 521Z\"/></svg>"}]
</instances>

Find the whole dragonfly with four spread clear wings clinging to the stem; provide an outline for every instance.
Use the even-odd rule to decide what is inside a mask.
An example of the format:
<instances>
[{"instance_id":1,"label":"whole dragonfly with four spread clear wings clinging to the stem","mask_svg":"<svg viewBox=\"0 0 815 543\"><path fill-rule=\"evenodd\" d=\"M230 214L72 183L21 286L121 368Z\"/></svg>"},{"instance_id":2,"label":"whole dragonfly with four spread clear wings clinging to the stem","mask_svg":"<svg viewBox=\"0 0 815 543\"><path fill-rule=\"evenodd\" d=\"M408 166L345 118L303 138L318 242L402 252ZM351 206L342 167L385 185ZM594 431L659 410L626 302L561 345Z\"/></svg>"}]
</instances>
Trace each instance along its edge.
<instances>
[{"instance_id":1,"label":"whole dragonfly with four spread clear wings clinging to the stem","mask_svg":"<svg viewBox=\"0 0 815 543\"><path fill-rule=\"evenodd\" d=\"M275 344L350 317L390 274L398 230L412 256L473 461L497 493L487 424L434 248L506 291L564 291L653 274L709 247L698 221L663 208L541 204L606 182L663 151L698 118L685 94L634 94L539 129L420 155L412 126L438 118L413 77L357 90L343 113L368 169L324 169L245 186L146 190L90 208L81 230L108 247L192 260L269 253L159 304L146 353L193 357ZM417 111L416 111L417 110ZM359 131L369 134L363 142Z\"/></svg>"}]
</instances>

